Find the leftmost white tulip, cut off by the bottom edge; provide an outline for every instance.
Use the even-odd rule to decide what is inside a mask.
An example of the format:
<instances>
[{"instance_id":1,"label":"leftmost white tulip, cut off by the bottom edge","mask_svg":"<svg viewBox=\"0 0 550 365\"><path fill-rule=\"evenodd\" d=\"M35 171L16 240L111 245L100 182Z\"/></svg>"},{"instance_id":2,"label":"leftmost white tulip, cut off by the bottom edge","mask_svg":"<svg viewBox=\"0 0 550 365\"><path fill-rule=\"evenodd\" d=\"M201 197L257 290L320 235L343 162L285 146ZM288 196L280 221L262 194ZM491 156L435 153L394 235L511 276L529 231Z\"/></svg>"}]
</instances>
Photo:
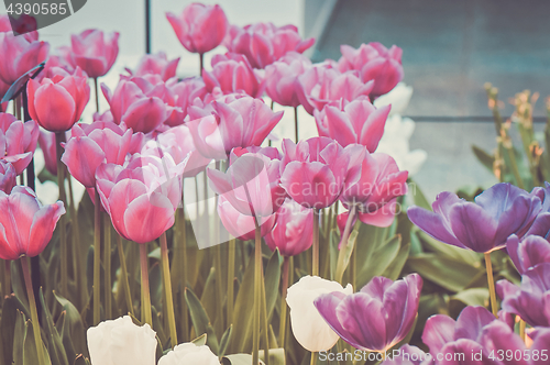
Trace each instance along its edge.
<instances>
[{"instance_id":1,"label":"leftmost white tulip, cut off by the bottom edge","mask_svg":"<svg viewBox=\"0 0 550 365\"><path fill-rule=\"evenodd\" d=\"M91 365L155 364L155 331L134 324L130 316L89 328L87 339Z\"/></svg>"}]
</instances>

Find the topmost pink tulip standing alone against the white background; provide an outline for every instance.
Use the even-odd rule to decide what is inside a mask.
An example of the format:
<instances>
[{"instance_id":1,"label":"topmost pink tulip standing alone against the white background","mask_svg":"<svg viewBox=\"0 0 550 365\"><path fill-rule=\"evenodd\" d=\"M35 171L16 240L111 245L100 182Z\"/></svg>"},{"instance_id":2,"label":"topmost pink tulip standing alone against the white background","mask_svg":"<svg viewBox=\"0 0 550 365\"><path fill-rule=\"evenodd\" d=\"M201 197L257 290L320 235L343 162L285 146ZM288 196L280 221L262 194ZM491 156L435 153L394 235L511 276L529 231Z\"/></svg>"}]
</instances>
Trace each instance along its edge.
<instances>
[{"instance_id":1,"label":"topmost pink tulip standing alone against the white background","mask_svg":"<svg viewBox=\"0 0 550 365\"><path fill-rule=\"evenodd\" d=\"M189 52L205 54L219 46L229 26L220 5L194 2L182 14L166 13L176 36Z\"/></svg>"}]
</instances>

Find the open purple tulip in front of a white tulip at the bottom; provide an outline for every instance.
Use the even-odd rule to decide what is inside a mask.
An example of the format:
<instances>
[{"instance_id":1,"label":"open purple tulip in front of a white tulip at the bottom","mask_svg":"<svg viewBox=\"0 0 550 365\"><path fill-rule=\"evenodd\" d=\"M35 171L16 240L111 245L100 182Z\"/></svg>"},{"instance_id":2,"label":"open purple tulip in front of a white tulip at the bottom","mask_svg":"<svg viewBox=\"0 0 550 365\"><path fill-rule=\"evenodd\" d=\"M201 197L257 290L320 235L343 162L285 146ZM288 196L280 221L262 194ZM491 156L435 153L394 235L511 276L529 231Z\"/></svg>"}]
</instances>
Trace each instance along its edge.
<instances>
[{"instance_id":1,"label":"open purple tulip in front of a white tulip at the bottom","mask_svg":"<svg viewBox=\"0 0 550 365\"><path fill-rule=\"evenodd\" d=\"M330 328L350 345L385 352L405 339L418 311L422 278L410 274L392 281L378 276L361 291L321 295L315 306Z\"/></svg>"}]
</instances>

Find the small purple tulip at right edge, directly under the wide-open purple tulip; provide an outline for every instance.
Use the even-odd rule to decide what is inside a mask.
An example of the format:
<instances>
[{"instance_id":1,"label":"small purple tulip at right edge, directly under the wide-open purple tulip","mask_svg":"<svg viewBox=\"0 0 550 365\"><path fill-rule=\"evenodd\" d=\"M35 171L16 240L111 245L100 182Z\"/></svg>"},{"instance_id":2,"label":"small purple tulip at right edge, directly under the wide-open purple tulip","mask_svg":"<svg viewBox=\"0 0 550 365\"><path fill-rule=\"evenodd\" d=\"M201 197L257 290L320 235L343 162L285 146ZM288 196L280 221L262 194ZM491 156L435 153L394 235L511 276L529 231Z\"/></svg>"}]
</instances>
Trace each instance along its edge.
<instances>
[{"instance_id":1,"label":"small purple tulip at right edge, directly under the wide-open purple tulip","mask_svg":"<svg viewBox=\"0 0 550 365\"><path fill-rule=\"evenodd\" d=\"M506 251L520 275L538 264L550 263L550 242L538 235L520 241L513 234L506 241Z\"/></svg>"}]
</instances>

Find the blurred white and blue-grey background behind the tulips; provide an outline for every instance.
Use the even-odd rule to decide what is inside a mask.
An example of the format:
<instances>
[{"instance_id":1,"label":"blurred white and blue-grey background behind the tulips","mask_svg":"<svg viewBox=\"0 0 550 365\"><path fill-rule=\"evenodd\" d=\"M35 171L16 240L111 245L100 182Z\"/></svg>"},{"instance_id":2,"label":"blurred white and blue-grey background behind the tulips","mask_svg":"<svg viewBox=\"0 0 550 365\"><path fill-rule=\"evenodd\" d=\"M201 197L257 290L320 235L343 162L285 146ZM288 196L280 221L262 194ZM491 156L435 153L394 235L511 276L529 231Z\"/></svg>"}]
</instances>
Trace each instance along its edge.
<instances>
[{"instance_id":1,"label":"blurred white and blue-grey background behind the tulips","mask_svg":"<svg viewBox=\"0 0 550 365\"><path fill-rule=\"evenodd\" d=\"M152 52L180 57L178 75L198 75L199 62L177 41L166 12L179 13L191 1L152 0ZM416 122L410 148L428 158L414 177L433 200L441 190L486 188L496 182L472 153L476 144L492 152L495 128L484 84L499 89L502 113L514 111L508 99L524 89L541 95L535 107L536 131L546 122L543 99L550 95L550 2L546 0L220 0L229 21L295 24L302 36L315 36L314 62L338 59L340 45L358 47L381 42L403 48L404 81L414 93L404 114ZM102 79L111 89L124 67L134 67L145 51L143 0L88 0L73 16L41 31L53 47L89 27L118 31L120 54ZM207 54L206 65L219 47ZM103 100L103 110L108 108ZM276 132L293 131L292 110ZM315 122L300 112L300 137L316 134ZM288 125L286 125L286 124ZM285 126L286 125L286 126ZM514 128L513 128L514 130ZM517 137L512 133L513 137Z\"/></svg>"}]
</instances>

